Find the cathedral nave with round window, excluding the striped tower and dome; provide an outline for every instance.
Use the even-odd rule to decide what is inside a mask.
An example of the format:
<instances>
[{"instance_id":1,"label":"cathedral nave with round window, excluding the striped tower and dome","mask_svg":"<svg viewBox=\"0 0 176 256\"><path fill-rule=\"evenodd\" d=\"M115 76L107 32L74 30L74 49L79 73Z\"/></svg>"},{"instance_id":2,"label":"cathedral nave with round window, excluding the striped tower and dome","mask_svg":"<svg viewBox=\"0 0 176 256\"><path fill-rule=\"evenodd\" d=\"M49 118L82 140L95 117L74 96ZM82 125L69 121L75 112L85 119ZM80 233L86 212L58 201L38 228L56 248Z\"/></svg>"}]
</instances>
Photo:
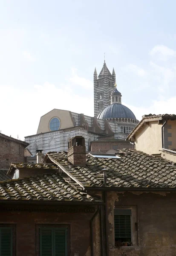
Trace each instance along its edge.
<instances>
[{"instance_id":1,"label":"cathedral nave with round window, excluding the striped tower and dome","mask_svg":"<svg viewBox=\"0 0 176 256\"><path fill-rule=\"evenodd\" d=\"M83 136L86 150L89 151L90 142L100 136L109 134L118 139L125 139L127 134L118 134L119 131L118 125L113 122L53 109L40 118L37 134L25 137L25 141L29 143L28 148L34 155L37 149L42 149L43 153L68 150L72 137Z\"/></svg>"}]
</instances>

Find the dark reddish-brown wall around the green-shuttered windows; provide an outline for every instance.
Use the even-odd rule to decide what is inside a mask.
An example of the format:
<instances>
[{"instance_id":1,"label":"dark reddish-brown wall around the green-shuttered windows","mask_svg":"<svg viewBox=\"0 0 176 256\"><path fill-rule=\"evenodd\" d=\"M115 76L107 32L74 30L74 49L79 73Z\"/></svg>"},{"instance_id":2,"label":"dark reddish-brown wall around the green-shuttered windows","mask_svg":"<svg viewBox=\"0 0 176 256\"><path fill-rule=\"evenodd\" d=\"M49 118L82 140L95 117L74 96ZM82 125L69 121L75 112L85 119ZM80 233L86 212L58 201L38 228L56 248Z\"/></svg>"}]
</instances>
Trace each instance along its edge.
<instances>
[{"instance_id":1,"label":"dark reddish-brown wall around the green-shuttered windows","mask_svg":"<svg viewBox=\"0 0 176 256\"><path fill-rule=\"evenodd\" d=\"M50 208L50 207L49 207ZM90 219L94 213L86 212L0 212L0 223L16 224L17 256L36 256L36 224L69 225L69 256L91 256ZM97 221L97 224L99 221ZM95 226L95 222L94 222ZM95 231L95 228L94 228ZM98 236L98 233L96 231ZM98 248L98 240L94 246ZM100 256L99 250L95 256Z\"/></svg>"}]
</instances>

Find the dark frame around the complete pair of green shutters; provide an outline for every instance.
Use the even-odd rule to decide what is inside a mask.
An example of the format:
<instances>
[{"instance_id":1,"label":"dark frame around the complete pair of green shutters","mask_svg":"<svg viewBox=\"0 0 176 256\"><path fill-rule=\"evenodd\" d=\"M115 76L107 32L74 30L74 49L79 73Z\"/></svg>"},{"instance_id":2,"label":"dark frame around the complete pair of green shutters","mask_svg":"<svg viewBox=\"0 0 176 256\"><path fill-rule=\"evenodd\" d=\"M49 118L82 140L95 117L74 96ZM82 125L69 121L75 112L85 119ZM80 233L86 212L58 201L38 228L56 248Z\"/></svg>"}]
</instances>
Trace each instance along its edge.
<instances>
[{"instance_id":1,"label":"dark frame around the complete pair of green shutters","mask_svg":"<svg viewBox=\"0 0 176 256\"><path fill-rule=\"evenodd\" d=\"M40 256L40 227L67 228L67 254L70 255L70 225L64 224L36 224L36 256Z\"/></svg>"}]
</instances>

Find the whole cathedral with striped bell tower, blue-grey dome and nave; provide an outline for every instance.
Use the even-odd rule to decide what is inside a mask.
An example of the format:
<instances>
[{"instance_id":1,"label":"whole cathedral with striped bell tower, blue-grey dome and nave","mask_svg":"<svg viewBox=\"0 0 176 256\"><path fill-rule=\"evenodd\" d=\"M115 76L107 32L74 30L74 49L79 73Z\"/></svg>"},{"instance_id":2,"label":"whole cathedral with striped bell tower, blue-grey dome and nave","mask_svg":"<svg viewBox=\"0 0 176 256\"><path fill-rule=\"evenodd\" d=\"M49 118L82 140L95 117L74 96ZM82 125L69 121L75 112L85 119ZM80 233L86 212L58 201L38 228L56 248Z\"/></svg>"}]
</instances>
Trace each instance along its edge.
<instances>
[{"instance_id":1,"label":"whole cathedral with striped bell tower, blue-grey dome and nave","mask_svg":"<svg viewBox=\"0 0 176 256\"><path fill-rule=\"evenodd\" d=\"M94 117L71 111L53 109L41 116L37 134L26 136L29 150L67 151L72 137L85 138L86 150L92 141L108 138L125 140L138 120L129 108L121 104L121 93L116 88L115 71L111 74L104 61L97 76L94 72ZM108 137L109 136L109 137Z\"/></svg>"}]
</instances>

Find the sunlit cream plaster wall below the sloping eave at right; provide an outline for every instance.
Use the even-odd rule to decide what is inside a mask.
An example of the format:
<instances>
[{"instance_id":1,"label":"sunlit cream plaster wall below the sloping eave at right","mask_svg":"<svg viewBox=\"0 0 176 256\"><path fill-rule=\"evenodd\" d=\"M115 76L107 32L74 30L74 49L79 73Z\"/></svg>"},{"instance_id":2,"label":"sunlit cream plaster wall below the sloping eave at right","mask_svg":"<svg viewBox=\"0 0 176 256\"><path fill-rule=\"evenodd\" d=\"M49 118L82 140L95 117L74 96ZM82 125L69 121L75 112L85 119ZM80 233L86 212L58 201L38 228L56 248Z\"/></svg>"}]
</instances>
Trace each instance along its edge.
<instances>
[{"instance_id":1,"label":"sunlit cream plaster wall below the sloping eave at right","mask_svg":"<svg viewBox=\"0 0 176 256\"><path fill-rule=\"evenodd\" d=\"M158 121L149 122L135 134L136 150L147 154L159 154L162 149L162 125Z\"/></svg>"}]
</instances>

